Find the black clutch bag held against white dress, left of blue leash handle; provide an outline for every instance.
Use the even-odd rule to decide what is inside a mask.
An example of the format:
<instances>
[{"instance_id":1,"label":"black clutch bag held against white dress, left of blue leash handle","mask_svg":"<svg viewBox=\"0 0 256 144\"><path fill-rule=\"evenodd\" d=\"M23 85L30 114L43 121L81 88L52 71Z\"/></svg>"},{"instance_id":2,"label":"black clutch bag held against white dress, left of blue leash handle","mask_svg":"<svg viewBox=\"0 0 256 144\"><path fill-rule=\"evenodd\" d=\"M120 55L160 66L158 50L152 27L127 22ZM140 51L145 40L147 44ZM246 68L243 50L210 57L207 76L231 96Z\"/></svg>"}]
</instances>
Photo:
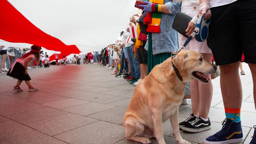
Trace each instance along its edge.
<instances>
[{"instance_id":1,"label":"black clutch bag held against white dress, left of blue leash handle","mask_svg":"<svg viewBox=\"0 0 256 144\"><path fill-rule=\"evenodd\" d=\"M178 31L178 33L182 34L184 37L188 38L188 36L186 35L186 29L188 28L188 23L192 20L192 18L182 12L178 12L178 14L176 14L173 24L172 24L172 28L176 31Z\"/></svg>"}]
</instances>

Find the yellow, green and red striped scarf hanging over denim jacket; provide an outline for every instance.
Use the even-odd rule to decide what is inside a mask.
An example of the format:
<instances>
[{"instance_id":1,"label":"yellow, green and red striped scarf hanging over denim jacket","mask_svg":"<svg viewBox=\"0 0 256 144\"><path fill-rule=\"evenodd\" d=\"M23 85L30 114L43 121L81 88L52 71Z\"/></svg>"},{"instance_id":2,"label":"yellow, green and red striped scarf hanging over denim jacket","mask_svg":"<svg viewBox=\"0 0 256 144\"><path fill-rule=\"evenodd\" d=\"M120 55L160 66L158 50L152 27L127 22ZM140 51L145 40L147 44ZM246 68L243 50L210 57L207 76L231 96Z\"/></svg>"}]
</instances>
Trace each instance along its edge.
<instances>
[{"instance_id":1,"label":"yellow, green and red striped scarf hanging over denim jacket","mask_svg":"<svg viewBox=\"0 0 256 144\"><path fill-rule=\"evenodd\" d=\"M160 33L162 12L158 11L161 11L161 5L164 4L164 0L150 0L150 2L154 3L154 5L152 5L152 9L154 9L154 12L148 13L146 15L146 17L144 18L144 23L148 25L147 32Z\"/></svg>"}]
</instances>

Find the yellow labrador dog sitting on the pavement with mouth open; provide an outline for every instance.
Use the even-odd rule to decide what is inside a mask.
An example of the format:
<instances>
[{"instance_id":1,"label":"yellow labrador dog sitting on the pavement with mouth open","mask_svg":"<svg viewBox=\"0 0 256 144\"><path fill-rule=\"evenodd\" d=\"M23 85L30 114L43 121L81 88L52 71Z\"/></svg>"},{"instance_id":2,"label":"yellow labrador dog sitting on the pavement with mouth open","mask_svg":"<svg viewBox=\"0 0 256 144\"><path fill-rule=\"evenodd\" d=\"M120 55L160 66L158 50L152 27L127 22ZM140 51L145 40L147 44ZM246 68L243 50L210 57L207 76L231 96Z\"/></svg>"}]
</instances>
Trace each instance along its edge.
<instances>
[{"instance_id":1,"label":"yellow labrador dog sitting on the pavement with mouth open","mask_svg":"<svg viewBox=\"0 0 256 144\"><path fill-rule=\"evenodd\" d=\"M150 138L156 138L159 144L165 144L162 123L170 119L178 144L189 144L182 139L178 125L178 108L184 97L185 85L193 79L207 83L209 77L205 74L213 74L216 69L203 60L201 54L191 50L181 51L173 60L168 58L155 66L136 87L124 115L126 138L143 144L151 143Z\"/></svg>"}]
</instances>

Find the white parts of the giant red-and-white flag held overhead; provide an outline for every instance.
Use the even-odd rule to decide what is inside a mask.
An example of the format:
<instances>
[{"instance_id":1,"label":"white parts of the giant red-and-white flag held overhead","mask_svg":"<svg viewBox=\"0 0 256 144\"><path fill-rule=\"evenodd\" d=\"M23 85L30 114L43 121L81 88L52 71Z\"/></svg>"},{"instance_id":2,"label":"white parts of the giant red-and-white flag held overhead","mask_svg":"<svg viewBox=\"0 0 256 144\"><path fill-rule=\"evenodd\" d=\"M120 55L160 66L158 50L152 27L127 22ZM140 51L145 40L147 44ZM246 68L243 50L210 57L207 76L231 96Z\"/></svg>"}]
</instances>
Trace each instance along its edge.
<instances>
[{"instance_id":1,"label":"white parts of the giant red-and-white flag held overhead","mask_svg":"<svg viewBox=\"0 0 256 144\"><path fill-rule=\"evenodd\" d=\"M129 27L137 13L136 0L8 0L21 14L46 34L84 53L98 51L113 43ZM113 22L114 23L113 23ZM107 34L107 36L106 36ZM0 40L0 45L6 41ZM30 44L6 43L13 47ZM23 46L20 46L23 45ZM47 49L47 48L46 48ZM50 54L49 54L50 56Z\"/></svg>"}]
</instances>

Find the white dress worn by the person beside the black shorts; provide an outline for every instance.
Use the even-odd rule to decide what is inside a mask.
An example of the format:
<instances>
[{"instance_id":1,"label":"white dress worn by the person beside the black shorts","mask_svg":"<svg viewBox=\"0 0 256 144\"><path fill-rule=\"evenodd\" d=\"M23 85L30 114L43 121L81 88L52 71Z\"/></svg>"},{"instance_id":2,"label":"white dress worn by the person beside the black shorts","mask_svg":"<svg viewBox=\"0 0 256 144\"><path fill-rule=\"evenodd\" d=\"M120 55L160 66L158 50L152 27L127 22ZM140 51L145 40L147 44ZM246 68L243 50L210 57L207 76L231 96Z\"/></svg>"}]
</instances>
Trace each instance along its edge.
<instances>
[{"instance_id":1,"label":"white dress worn by the person beside the black shorts","mask_svg":"<svg viewBox=\"0 0 256 144\"><path fill-rule=\"evenodd\" d=\"M190 16L191 18L194 18L194 16L198 13L199 5L199 0L182 0L181 12ZM187 38L184 37L182 34L179 34L178 37L179 46L182 46L187 40ZM195 38L188 43L185 50L194 50L199 53L212 53L210 48L207 46L206 41L198 42Z\"/></svg>"}]
</instances>

